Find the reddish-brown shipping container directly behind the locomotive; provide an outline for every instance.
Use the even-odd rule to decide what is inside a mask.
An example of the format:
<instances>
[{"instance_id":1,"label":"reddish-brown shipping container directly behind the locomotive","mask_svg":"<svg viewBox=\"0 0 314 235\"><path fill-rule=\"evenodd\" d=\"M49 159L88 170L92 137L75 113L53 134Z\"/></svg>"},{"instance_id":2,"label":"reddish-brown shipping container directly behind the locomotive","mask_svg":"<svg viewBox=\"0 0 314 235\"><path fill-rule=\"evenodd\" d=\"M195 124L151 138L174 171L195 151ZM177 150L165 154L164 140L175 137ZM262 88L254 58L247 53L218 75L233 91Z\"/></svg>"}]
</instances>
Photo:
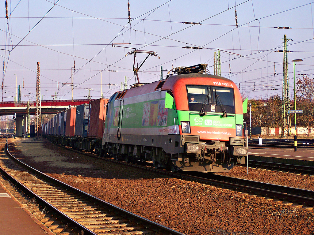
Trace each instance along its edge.
<instances>
[{"instance_id":1,"label":"reddish-brown shipping container directly behind the locomotive","mask_svg":"<svg viewBox=\"0 0 314 235\"><path fill-rule=\"evenodd\" d=\"M102 138L108 99L100 98L89 102L87 138Z\"/></svg>"}]
</instances>

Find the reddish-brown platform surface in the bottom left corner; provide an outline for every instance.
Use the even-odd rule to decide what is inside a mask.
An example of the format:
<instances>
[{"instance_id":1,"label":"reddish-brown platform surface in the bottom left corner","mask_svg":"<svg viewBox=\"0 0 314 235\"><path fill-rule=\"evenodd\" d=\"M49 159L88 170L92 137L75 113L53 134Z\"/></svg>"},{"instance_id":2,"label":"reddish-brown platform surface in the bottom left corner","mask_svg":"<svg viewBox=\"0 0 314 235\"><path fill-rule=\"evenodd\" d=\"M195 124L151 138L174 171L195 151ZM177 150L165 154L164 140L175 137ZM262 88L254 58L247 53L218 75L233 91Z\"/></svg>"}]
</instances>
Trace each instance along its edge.
<instances>
[{"instance_id":1,"label":"reddish-brown platform surface in the bottom left corner","mask_svg":"<svg viewBox=\"0 0 314 235\"><path fill-rule=\"evenodd\" d=\"M0 234L53 235L28 212L0 181Z\"/></svg>"}]
</instances>

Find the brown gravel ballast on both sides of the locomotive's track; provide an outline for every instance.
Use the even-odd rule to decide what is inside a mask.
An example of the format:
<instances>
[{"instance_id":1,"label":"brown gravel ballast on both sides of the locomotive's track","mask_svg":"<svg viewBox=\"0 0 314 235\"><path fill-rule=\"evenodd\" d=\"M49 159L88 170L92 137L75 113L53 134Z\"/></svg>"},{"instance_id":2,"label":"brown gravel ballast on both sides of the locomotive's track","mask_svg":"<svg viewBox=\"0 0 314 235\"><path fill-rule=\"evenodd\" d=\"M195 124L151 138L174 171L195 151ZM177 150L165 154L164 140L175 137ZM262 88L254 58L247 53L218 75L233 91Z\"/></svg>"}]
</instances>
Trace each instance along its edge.
<instances>
[{"instance_id":1,"label":"brown gravel ballast on both sides of the locomotive's track","mask_svg":"<svg viewBox=\"0 0 314 235\"><path fill-rule=\"evenodd\" d=\"M314 234L314 211L241 192L166 178L60 148L9 139L19 158L80 190L186 234ZM235 167L230 176L314 190L313 177Z\"/></svg>"}]
</instances>

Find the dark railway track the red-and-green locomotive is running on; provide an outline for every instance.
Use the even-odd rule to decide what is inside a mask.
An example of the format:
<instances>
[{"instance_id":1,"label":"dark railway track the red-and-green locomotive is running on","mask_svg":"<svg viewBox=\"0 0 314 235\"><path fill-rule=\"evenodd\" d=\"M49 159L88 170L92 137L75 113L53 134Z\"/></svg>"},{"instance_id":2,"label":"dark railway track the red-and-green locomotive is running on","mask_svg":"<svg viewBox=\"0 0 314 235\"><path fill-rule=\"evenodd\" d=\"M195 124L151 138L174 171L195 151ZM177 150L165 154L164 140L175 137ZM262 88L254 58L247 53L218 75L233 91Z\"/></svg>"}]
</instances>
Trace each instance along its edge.
<instances>
[{"instance_id":1,"label":"dark railway track the red-and-green locomotive is running on","mask_svg":"<svg viewBox=\"0 0 314 235\"><path fill-rule=\"evenodd\" d=\"M61 145L58 145L61 146ZM64 147L64 146L62 146ZM64 147L66 148L66 147ZM66 148L69 149L69 148ZM69 149L72 150L72 149ZM250 194L255 194L264 197L270 197L281 201L289 201L292 203L303 204L305 206L314 206L314 191L297 189L282 185L272 185L268 183L243 180L239 178L227 177L222 175L208 174L204 172L187 172L187 174L173 173L171 171L155 169L153 167L117 161L115 159L99 157L95 154L72 150L91 157L104 159L106 161L116 162L122 165L133 166L145 170L154 171L163 175L170 175L180 179L197 181L200 183L210 184L217 187L224 187L231 190L242 191Z\"/></svg>"}]
</instances>

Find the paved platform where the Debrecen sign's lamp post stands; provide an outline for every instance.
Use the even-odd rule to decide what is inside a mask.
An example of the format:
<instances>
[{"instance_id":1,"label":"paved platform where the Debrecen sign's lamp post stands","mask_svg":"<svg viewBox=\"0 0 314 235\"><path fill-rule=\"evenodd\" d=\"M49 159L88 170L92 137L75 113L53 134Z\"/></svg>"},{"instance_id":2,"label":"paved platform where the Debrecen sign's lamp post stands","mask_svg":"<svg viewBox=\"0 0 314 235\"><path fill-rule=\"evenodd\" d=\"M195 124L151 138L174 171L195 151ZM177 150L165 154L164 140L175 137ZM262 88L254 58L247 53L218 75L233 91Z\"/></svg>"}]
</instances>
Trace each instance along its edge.
<instances>
[{"instance_id":1,"label":"paved platform where the Debrecen sign's lamp post stands","mask_svg":"<svg viewBox=\"0 0 314 235\"><path fill-rule=\"evenodd\" d=\"M249 148L249 161L267 161L291 165L314 166L314 149L294 148L270 149L270 148Z\"/></svg>"}]
</instances>

